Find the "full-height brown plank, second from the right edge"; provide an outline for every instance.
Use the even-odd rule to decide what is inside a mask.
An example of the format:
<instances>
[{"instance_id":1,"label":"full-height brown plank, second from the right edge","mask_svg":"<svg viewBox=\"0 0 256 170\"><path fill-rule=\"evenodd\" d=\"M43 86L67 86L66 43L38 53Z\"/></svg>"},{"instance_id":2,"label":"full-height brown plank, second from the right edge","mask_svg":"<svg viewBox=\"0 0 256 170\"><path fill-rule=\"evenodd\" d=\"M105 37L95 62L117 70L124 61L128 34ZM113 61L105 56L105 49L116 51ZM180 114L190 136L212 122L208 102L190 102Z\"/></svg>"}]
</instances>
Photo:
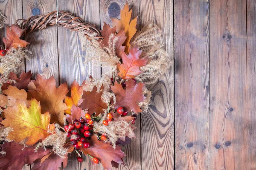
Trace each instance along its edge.
<instances>
[{"instance_id":1,"label":"full-height brown plank, second from the right edge","mask_svg":"<svg viewBox=\"0 0 256 170\"><path fill-rule=\"evenodd\" d=\"M206 170L209 169L209 2L175 0L174 17L175 167Z\"/></svg>"}]
</instances>

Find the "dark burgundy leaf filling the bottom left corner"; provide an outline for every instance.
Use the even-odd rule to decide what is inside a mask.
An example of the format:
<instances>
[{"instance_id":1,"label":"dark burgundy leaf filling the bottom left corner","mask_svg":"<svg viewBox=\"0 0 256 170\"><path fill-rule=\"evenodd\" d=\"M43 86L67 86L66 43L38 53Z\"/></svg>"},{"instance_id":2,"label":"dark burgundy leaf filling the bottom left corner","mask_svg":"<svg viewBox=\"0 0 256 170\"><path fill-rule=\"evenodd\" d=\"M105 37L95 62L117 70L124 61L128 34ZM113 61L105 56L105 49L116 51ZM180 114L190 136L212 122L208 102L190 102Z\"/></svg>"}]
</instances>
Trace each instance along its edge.
<instances>
[{"instance_id":1,"label":"dark burgundy leaf filling the bottom left corner","mask_svg":"<svg viewBox=\"0 0 256 170\"><path fill-rule=\"evenodd\" d=\"M0 158L1 170L21 170L25 164L32 164L36 159L41 159L51 151L39 148L35 152L35 147L24 147L15 142L4 143L0 145L1 147L2 151L6 152L6 155Z\"/></svg>"}]
</instances>

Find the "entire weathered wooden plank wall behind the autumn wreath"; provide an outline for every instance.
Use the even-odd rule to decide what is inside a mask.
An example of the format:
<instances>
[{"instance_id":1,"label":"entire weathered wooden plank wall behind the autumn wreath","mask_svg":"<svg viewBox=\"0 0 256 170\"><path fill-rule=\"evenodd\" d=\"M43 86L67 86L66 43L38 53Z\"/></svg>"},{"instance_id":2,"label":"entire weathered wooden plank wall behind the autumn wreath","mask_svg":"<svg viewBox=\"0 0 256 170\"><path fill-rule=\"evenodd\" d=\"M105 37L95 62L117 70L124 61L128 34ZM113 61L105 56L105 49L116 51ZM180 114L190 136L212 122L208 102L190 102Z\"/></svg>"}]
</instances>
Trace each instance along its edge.
<instances>
[{"instance_id":1,"label":"entire weathered wooden plank wall behind the autumn wreath","mask_svg":"<svg viewBox=\"0 0 256 170\"><path fill-rule=\"evenodd\" d=\"M102 27L126 0L59 0ZM256 169L256 0L128 0L138 28L157 23L172 60L152 85L149 112L136 122L137 139L123 147L122 170ZM56 9L56 0L0 0L12 24ZM0 34L3 37L3 33ZM55 26L29 35L33 58L20 71L44 71L59 83L81 83L105 71L83 64L78 35ZM35 75L35 74L34 74ZM102 170L69 157L66 170ZM29 170L30 167L24 167Z\"/></svg>"}]
</instances>

